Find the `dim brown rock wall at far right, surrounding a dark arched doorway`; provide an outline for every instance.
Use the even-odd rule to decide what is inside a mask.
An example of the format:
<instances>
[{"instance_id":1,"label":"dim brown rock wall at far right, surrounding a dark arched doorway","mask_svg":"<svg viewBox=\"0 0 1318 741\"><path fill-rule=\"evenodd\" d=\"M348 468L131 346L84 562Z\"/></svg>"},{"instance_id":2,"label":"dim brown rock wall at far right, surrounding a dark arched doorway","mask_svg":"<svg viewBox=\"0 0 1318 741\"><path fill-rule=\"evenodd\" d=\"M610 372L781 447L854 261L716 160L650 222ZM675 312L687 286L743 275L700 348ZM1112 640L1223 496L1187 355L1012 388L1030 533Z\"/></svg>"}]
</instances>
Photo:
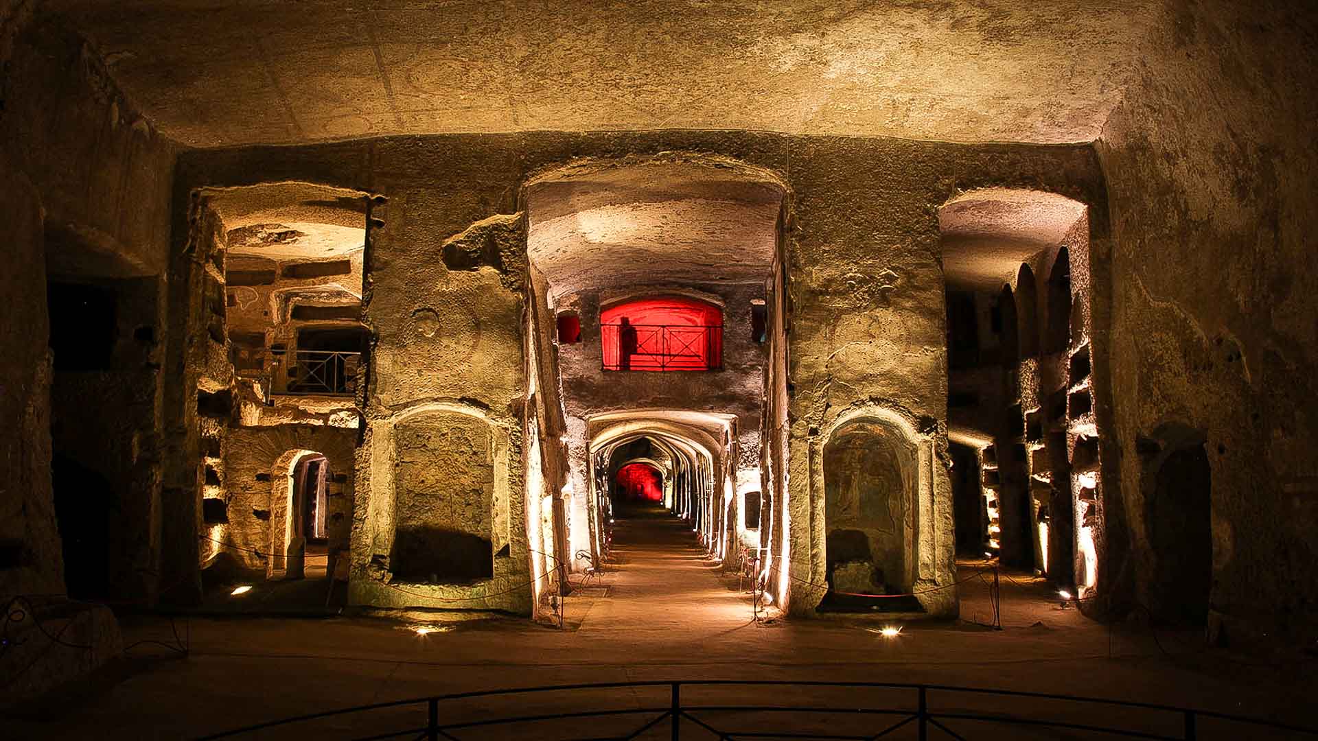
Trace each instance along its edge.
<instances>
[{"instance_id":1,"label":"dim brown rock wall at far right, surrounding a dark arched doorway","mask_svg":"<svg viewBox=\"0 0 1318 741\"><path fill-rule=\"evenodd\" d=\"M1307 3L1169 3L1097 150L1112 210L1112 396L1135 599L1164 423L1211 464L1211 608L1231 633L1318 626L1315 21ZM1141 439L1145 440L1141 444ZM1145 451L1141 455L1141 447Z\"/></svg>"}]
</instances>

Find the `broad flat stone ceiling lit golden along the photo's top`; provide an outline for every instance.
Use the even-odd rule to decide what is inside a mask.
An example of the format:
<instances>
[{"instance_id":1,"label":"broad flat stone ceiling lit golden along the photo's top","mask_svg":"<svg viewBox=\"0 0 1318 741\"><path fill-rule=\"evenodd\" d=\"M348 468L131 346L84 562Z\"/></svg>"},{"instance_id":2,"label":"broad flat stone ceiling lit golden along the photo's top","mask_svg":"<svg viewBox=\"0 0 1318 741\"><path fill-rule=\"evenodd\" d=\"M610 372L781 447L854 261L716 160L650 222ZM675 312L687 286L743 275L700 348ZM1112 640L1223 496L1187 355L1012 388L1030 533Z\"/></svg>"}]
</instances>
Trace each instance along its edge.
<instances>
[{"instance_id":1,"label":"broad flat stone ceiling lit golden along the photo's top","mask_svg":"<svg viewBox=\"0 0 1318 741\"><path fill-rule=\"evenodd\" d=\"M1094 140L1153 0L49 0L192 146L764 129Z\"/></svg>"}]
</instances>

